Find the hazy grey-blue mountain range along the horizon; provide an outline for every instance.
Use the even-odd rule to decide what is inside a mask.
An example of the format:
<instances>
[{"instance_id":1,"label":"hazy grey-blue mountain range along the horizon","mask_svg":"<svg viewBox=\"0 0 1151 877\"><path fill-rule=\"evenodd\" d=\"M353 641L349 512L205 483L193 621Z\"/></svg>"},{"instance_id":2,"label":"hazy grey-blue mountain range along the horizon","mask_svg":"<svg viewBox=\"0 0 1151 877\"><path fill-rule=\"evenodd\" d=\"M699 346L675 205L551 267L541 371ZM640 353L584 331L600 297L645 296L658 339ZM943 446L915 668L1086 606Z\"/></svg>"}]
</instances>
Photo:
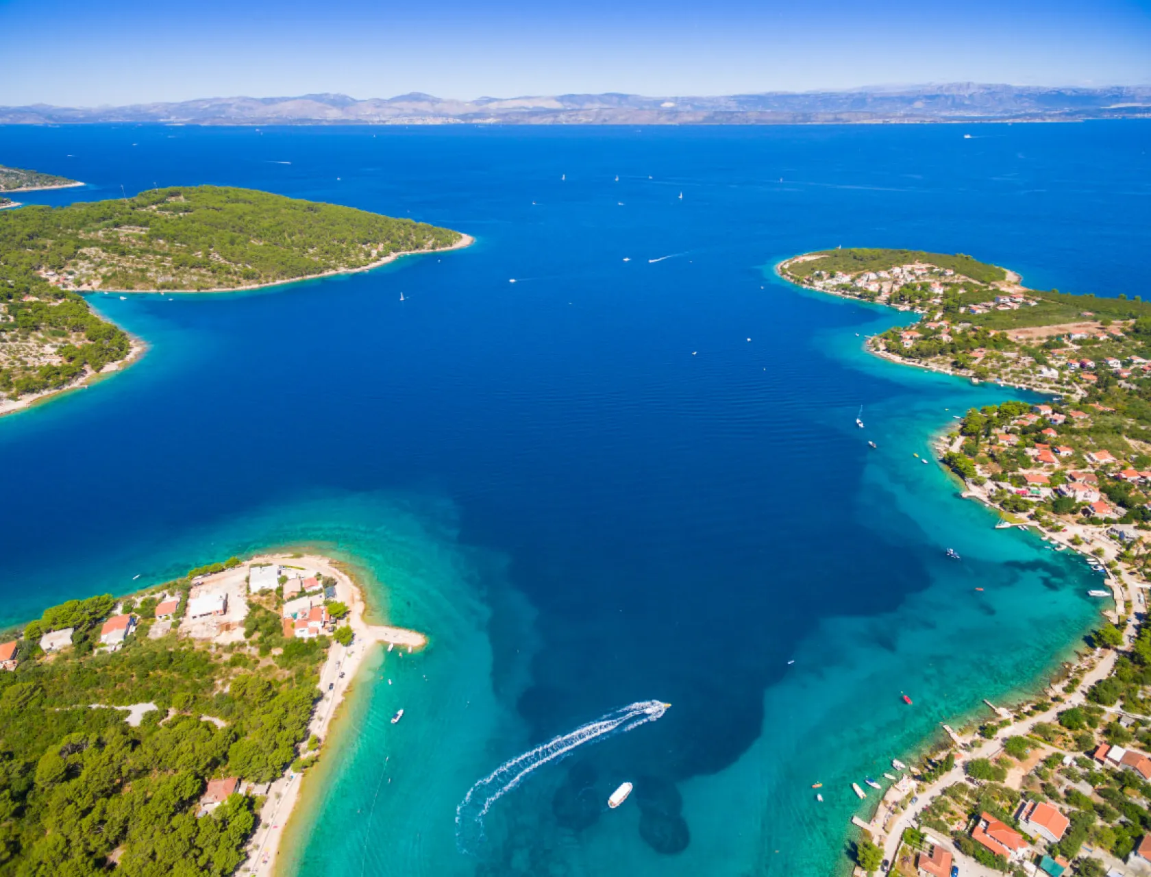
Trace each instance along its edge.
<instances>
[{"instance_id":1,"label":"hazy grey-blue mountain range along the horizon","mask_svg":"<svg viewBox=\"0 0 1151 877\"><path fill-rule=\"evenodd\" d=\"M1059 89L951 83L855 91L726 97L639 94L451 100L413 92L357 100L205 98L125 107L0 107L2 124L830 124L875 122L1057 122L1151 117L1151 86Z\"/></svg>"}]
</instances>

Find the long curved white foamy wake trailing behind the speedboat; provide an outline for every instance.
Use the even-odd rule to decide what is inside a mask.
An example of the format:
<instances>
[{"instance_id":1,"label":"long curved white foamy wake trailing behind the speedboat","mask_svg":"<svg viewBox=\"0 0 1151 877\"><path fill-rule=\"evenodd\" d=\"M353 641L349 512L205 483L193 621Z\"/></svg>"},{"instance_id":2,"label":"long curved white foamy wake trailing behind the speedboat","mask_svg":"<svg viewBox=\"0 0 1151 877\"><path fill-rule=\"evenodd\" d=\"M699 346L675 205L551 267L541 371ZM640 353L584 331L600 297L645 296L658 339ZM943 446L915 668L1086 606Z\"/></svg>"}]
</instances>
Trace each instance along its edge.
<instances>
[{"instance_id":1,"label":"long curved white foamy wake trailing behind the speedboat","mask_svg":"<svg viewBox=\"0 0 1151 877\"><path fill-rule=\"evenodd\" d=\"M585 743L594 743L615 734L626 733L648 722L655 722L670 706L662 701L640 701L620 707L605 716L600 716L595 722L580 725L574 731L552 738L501 764L467 790L464 800L456 808L456 845L459 851L467 852L468 841L465 834L477 832L480 839L483 838L483 817L487 816L491 804L518 786L533 770L563 757Z\"/></svg>"}]
</instances>

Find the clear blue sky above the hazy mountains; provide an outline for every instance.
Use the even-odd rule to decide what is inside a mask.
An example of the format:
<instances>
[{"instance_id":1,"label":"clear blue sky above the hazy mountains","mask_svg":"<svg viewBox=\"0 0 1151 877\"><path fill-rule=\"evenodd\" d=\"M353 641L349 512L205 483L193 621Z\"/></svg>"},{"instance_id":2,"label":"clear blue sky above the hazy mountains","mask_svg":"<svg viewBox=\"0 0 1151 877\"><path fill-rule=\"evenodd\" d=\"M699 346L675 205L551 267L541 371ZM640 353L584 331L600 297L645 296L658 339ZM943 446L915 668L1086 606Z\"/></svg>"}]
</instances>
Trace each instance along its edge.
<instances>
[{"instance_id":1,"label":"clear blue sky above the hazy mountains","mask_svg":"<svg viewBox=\"0 0 1151 877\"><path fill-rule=\"evenodd\" d=\"M0 0L0 104L1151 84L1151 0Z\"/></svg>"}]
</instances>

